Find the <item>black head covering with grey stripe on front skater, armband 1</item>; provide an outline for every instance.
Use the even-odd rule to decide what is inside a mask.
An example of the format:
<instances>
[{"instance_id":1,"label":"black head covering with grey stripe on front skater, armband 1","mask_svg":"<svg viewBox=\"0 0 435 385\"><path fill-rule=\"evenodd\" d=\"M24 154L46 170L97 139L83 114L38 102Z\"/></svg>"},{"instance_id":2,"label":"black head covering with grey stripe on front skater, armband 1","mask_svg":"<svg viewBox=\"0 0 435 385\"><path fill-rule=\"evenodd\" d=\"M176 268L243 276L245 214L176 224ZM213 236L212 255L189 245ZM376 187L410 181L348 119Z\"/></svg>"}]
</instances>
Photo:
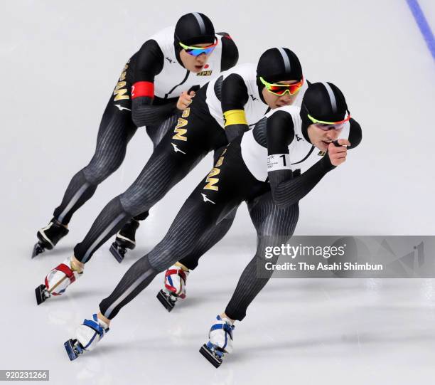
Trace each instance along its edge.
<instances>
[{"instance_id":1,"label":"black head covering with grey stripe on front skater, armband 1","mask_svg":"<svg viewBox=\"0 0 435 385\"><path fill-rule=\"evenodd\" d=\"M338 122L345 118L348 111L343 93L333 83L313 83L308 87L302 99L301 119L311 124L308 114L317 120Z\"/></svg>"}]
</instances>

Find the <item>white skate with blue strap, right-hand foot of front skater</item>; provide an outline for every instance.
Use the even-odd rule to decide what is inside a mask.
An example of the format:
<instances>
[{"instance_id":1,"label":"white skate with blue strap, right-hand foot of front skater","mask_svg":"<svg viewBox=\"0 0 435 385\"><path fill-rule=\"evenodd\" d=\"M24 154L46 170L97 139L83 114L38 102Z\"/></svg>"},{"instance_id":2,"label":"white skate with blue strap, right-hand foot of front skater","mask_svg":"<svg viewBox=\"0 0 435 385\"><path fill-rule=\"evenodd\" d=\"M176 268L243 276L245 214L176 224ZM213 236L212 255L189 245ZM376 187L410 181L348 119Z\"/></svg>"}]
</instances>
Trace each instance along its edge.
<instances>
[{"instance_id":1,"label":"white skate with blue strap, right-hand foot of front skater","mask_svg":"<svg viewBox=\"0 0 435 385\"><path fill-rule=\"evenodd\" d=\"M222 364L224 354L232 352L232 331L234 328L231 320L218 315L208 333L208 342L200 348L200 354L203 354L215 368Z\"/></svg>"}]
</instances>

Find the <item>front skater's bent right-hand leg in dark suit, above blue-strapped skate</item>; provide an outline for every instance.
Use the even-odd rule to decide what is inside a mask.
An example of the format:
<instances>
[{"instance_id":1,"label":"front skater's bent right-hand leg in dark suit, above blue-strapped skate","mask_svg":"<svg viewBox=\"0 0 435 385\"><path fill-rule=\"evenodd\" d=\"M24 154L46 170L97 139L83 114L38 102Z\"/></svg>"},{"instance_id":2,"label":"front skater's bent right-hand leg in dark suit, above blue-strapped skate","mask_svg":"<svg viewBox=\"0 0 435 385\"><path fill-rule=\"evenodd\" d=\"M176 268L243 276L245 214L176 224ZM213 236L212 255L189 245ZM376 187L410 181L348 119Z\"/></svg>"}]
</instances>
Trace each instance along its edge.
<instances>
[{"instance_id":1,"label":"front skater's bent right-hand leg in dark suit, above blue-strapped skate","mask_svg":"<svg viewBox=\"0 0 435 385\"><path fill-rule=\"evenodd\" d=\"M249 213L257 229L257 252L240 276L235 292L223 314L230 320L243 320L247 307L269 281L273 270L264 268L265 248L281 246L289 240L299 218L299 206L296 204L280 209L274 204L272 194L267 193L249 203ZM277 258L267 261L276 263ZM259 278L259 273L262 278Z\"/></svg>"}]
</instances>

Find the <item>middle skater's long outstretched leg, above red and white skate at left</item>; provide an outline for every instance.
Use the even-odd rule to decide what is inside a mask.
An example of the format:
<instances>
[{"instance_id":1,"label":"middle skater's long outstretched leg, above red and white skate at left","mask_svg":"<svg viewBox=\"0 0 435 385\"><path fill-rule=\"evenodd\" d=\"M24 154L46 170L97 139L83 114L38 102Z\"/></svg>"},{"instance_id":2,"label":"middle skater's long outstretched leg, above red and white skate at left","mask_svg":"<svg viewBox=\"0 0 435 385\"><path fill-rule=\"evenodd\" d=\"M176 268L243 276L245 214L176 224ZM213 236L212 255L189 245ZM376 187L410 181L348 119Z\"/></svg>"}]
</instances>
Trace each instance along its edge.
<instances>
[{"instance_id":1,"label":"middle skater's long outstretched leg, above red and white skate at left","mask_svg":"<svg viewBox=\"0 0 435 385\"><path fill-rule=\"evenodd\" d=\"M86 263L92 253L117 233L129 218L148 211L162 199L210 151L218 139L225 142L222 129L218 131L222 135L220 138L211 139L203 120L195 115L186 116L186 111L183 115L186 122L183 130L186 132L183 131L181 135L176 128L176 135L173 131L165 135L136 181L104 207L85 239L75 246L77 260Z\"/></svg>"}]
</instances>

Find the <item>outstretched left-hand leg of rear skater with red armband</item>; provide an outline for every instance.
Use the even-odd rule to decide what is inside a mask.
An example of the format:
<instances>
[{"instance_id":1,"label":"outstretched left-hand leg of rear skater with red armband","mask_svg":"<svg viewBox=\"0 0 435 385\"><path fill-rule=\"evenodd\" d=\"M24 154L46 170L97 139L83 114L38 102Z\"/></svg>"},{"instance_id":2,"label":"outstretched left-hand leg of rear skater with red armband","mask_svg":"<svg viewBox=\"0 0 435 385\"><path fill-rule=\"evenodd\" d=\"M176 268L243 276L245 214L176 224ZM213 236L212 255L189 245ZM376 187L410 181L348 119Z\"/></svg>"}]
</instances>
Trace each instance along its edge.
<instances>
[{"instance_id":1,"label":"outstretched left-hand leg of rear skater with red armband","mask_svg":"<svg viewBox=\"0 0 435 385\"><path fill-rule=\"evenodd\" d=\"M60 223L67 225L73 213L92 197L98 184L118 169L135 132L130 112L119 110L110 100L102 117L94 156L73 176L62 203L54 211L53 215Z\"/></svg>"}]
</instances>

